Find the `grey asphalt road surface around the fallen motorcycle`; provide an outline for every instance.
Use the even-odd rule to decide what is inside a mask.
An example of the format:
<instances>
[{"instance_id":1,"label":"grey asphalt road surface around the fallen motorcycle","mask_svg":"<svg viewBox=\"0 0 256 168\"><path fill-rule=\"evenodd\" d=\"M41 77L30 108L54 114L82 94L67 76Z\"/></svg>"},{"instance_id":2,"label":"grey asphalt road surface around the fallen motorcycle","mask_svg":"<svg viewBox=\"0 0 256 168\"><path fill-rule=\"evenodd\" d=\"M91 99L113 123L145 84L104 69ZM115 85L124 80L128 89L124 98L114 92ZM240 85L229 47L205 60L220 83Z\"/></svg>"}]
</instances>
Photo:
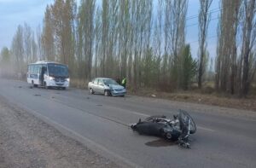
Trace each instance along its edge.
<instances>
[{"instance_id":1,"label":"grey asphalt road surface around the fallen motorcycle","mask_svg":"<svg viewBox=\"0 0 256 168\"><path fill-rule=\"evenodd\" d=\"M31 89L5 79L0 79L0 96L124 166L256 167L255 112L138 96L91 96L86 90ZM189 110L198 126L191 149L139 136L127 126L153 114L171 117L179 108Z\"/></svg>"}]
</instances>

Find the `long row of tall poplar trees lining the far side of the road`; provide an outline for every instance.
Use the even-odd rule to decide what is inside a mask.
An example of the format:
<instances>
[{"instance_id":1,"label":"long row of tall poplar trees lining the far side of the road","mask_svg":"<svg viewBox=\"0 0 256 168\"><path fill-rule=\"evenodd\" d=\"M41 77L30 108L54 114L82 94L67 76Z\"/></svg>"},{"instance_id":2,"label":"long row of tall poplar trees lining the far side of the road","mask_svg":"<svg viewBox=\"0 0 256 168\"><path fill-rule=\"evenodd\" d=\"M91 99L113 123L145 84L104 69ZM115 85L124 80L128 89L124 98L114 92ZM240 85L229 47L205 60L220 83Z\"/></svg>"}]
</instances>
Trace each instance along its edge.
<instances>
[{"instance_id":1,"label":"long row of tall poplar trees lining the far side of the road","mask_svg":"<svg viewBox=\"0 0 256 168\"><path fill-rule=\"evenodd\" d=\"M18 26L9 52L16 72L38 60L67 64L71 77L128 78L132 88L189 89L204 84L212 0L200 0L199 49L186 43L188 0L55 0L36 32ZM245 96L256 71L255 0L220 0L216 90ZM6 64L5 64L6 65ZM3 65L2 65L3 67Z\"/></svg>"}]
</instances>

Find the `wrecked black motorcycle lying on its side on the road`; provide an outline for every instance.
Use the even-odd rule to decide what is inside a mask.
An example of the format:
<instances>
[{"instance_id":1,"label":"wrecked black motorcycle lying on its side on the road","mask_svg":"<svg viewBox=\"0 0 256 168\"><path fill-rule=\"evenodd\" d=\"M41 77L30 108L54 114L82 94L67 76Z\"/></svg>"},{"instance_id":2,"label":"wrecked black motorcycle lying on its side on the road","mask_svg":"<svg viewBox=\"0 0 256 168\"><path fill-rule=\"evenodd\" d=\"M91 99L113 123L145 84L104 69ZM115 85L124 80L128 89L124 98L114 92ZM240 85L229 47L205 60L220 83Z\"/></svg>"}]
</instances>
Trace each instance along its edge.
<instances>
[{"instance_id":1,"label":"wrecked black motorcycle lying on its side on the road","mask_svg":"<svg viewBox=\"0 0 256 168\"><path fill-rule=\"evenodd\" d=\"M189 113L179 110L173 119L164 115L150 116L143 121L139 119L137 124L131 125L131 129L143 135L164 137L190 148L189 135L195 133L196 125Z\"/></svg>"}]
</instances>

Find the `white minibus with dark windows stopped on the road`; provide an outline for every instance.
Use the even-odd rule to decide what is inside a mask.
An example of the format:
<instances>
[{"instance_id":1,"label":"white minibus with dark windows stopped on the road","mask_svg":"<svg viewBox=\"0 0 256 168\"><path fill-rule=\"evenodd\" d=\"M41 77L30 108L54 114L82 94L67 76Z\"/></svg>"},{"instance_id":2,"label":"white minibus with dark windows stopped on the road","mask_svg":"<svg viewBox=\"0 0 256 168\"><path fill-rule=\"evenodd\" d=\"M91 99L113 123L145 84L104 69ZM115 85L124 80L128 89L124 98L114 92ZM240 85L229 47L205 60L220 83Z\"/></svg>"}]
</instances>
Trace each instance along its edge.
<instances>
[{"instance_id":1,"label":"white minibus with dark windows stopped on the road","mask_svg":"<svg viewBox=\"0 0 256 168\"><path fill-rule=\"evenodd\" d=\"M65 90L69 87L69 74L66 65L52 61L38 61L27 65L26 81L33 87L46 89L56 87Z\"/></svg>"}]
</instances>

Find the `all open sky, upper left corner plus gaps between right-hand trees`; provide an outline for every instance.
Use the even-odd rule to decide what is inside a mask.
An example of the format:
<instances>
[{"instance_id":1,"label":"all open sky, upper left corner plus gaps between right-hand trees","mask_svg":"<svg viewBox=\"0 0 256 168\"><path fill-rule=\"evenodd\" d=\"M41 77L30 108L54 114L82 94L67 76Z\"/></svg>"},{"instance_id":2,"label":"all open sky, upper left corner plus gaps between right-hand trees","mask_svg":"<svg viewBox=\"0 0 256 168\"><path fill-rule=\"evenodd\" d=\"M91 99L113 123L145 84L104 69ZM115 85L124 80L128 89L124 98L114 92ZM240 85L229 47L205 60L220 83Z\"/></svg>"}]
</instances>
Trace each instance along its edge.
<instances>
[{"instance_id":1,"label":"all open sky, upper left corner plus gaps between right-hand trees","mask_svg":"<svg viewBox=\"0 0 256 168\"><path fill-rule=\"evenodd\" d=\"M208 47L211 57L215 55L216 36L218 20L218 1L213 0L211 10L212 20L208 30ZM11 41L15 35L18 25L25 22L32 26L36 32L37 27L42 26L44 10L47 4L53 3L54 0L0 0L0 49L4 46L10 48ZM189 9L187 18L197 16L199 10L199 0L189 0ZM192 55L196 57L198 50L198 18L187 20L187 43L191 44Z\"/></svg>"}]
</instances>

